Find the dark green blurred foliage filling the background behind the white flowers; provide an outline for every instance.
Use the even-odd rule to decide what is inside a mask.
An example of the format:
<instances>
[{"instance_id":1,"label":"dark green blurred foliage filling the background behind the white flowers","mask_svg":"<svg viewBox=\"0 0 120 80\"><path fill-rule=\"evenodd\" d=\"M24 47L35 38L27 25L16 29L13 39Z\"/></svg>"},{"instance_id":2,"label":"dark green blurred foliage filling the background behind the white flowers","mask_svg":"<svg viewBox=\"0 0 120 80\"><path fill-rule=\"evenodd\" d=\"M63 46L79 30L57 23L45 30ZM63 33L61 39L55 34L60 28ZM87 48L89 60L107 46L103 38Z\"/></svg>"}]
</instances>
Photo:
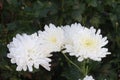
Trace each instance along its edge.
<instances>
[{"instance_id":1,"label":"dark green blurred foliage filling the background behind the white flowers","mask_svg":"<svg viewBox=\"0 0 120 80\"><path fill-rule=\"evenodd\" d=\"M43 30L49 23L66 25L74 22L100 28L109 40L106 47L112 54L102 62L90 63L90 75L96 80L117 80L120 71L120 0L0 0L0 80L77 80L81 77L59 54L51 72L42 67L32 73L17 72L16 65L6 57L7 44L17 33L31 34Z\"/></svg>"}]
</instances>

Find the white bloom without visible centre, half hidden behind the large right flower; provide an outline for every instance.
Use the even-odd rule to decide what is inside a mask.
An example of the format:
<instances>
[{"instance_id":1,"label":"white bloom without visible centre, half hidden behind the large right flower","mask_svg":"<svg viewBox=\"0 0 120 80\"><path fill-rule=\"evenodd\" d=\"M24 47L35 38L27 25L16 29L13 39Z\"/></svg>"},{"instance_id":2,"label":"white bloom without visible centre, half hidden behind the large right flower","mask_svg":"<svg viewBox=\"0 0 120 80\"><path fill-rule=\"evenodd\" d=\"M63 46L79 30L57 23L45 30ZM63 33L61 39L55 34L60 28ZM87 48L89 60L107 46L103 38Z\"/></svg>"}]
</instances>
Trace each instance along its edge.
<instances>
[{"instance_id":1,"label":"white bloom without visible centre, half hidden behind the large right flower","mask_svg":"<svg viewBox=\"0 0 120 80\"><path fill-rule=\"evenodd\" d=\"M65 46L64 47L66 48L66 50L63 52L64 53L69 52L69 54L71 56L78 57L79 55L75 49L76 44L74 44L74 42L75 42L74 38L75 38L76 34L78 34L78 32L83 29L82 25L79 23L78 24L75 23L75 24L71 24L71 26L66 25L62 28L64 30L64 35L65 35L65 41L64 41Z\"/></svg>"}]
</instances>

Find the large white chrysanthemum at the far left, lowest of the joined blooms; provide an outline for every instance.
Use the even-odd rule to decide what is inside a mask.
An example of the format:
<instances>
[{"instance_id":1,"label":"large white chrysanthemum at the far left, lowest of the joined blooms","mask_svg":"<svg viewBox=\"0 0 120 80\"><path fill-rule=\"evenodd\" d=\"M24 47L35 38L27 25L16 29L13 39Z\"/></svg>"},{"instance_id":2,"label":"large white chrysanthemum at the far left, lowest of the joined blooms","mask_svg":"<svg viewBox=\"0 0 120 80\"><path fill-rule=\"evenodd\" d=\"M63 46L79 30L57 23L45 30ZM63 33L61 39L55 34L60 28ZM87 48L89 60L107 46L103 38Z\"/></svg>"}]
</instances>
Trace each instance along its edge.
<instances>
[{"instance_id":1,"label":"large white chrysanthemum at the far left, lowest of the joined blooms","mask_svg":"<svg viewBox=\"0 0 120 80\"><path fill-rule=\"evenodd\" d=\"M39 65L50 71L51 59L48 57L51 55L49 50L45 50L45 47L40 45L36 33L17 34L7 47L10 51L7 56L11 58L11 63L17 64L17 71L26 71L27 68L33 71L33 66L38 69Z\"/></svg>"}]
</instances>

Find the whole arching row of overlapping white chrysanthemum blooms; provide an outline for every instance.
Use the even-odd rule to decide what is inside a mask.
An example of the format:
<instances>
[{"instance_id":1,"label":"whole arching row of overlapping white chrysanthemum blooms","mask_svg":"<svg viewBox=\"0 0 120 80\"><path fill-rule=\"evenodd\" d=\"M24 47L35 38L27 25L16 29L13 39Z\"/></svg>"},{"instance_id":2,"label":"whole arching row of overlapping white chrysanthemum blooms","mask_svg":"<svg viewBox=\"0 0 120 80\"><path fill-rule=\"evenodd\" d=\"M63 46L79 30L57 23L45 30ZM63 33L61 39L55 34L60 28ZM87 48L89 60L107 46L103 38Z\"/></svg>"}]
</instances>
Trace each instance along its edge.
<instances>
[{"instance_id":1,"label":"whole arching row of overlapping white chrysanthemum blooms","mask_svg":"<svg viewBox=\"0 0 120 80\"><path fill-rule=\"evenodd\" d=\"M17 34L7 46L10 52L7 56L11 63L17 64L17 71L26 71L27 68L33 71L33 67L38 69L40 65L50 71L51 52L65 49L64 52L76 56L78 61L86 58L100 61L110 54L104 48L107 43L107 38L102 38L100 30L93 27L89 29L77 23L64 27L49 24L45 25L44 31L32 35Z\"/></svg>"}]
</instances>

